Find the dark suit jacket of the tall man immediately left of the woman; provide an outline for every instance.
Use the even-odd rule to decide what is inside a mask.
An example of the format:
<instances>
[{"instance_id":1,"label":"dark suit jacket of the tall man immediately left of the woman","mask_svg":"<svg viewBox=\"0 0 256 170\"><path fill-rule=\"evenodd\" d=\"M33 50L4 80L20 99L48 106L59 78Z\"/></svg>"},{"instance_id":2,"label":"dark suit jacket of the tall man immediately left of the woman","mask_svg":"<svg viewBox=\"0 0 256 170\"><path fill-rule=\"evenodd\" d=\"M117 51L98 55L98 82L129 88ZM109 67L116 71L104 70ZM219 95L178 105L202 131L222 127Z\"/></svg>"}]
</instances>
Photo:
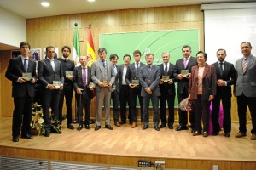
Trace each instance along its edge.
<instances>
[{"instance_id":1,"label":"dark suit jacket of the tall man immediately left of the woman","mask_svg":"<svg viewBox=\"0 0 256 170\"><path fill-rule=\"evenodd\" d=\"M178 59L176 61L176 68L177 68L177 74L175 75L176 80L177 80L177 94L183 94L183 90L186 89L187 91L189 91L189 79L187 78L183 78L182 80L178 80L177 75L181 74L182 70L189 70L189 73L191 73L191 68L192 66L197 65L197 61L195 57L190 57L189 62L186 66L186 68L184 68L184 63L183 63L183 58L182 59Z\"/></svg>"}]
</instances>

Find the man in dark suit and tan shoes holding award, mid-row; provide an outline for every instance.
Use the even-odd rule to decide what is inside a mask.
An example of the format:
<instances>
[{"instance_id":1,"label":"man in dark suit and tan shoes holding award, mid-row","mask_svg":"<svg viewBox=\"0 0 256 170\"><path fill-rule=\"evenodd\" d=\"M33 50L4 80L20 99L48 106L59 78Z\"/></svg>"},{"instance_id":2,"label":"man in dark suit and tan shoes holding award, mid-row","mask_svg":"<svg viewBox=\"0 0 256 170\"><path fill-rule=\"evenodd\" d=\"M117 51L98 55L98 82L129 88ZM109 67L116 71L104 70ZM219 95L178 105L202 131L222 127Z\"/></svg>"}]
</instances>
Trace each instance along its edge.
<instances>
[{"instance_id":1,"label":"man in dark suit and tan shoes holding award, mid-row","mask_svg":"<svg viewBox=\"0 0 256 170\"><path fill-rule=\"evenodd\" d=\"M137 127L137 97L139 99L140 107L141 107L141 127L144 127L143 125L143 98L141 96L142 91L142 85L139 82L139 70L140 67L144 66L141 62L141 52L139 50L135 50L133 52L133 57L135 62L128 66L126 76L125 76L125 82L130 87L130 98L131 98L131 119L130 124L131 127ZM133 84L132 82L138 81L138 85ZM125 122L120 122L120 124L125 124Z\"/></svg>"}]
</instances>

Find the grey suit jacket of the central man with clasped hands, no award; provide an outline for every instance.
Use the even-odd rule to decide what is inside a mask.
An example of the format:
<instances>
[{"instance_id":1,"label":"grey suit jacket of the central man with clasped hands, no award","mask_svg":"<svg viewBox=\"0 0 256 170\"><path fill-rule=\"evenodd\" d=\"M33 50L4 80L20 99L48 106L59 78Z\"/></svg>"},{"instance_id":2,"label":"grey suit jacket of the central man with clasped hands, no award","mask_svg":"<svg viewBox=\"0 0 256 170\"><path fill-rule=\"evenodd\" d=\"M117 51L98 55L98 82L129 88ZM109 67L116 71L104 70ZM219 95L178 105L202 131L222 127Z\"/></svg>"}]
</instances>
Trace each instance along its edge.
<instances>
[{"instance_id":1,"label":"grey suit jacket of the central man with clasped hands, no award","mask_svg":"<svg viewBox=\"0 0 256 170\"><path fill-rule=\"evenodd\" d=\"M159 81L160 81L160 67L156 65L151 65L151 71L148 70L148 65L144 65L140 67L139 70L139 80L142 85L142 97L147 97L148 93L146 92L145 88L151 88L153 96L160 96L160 88L159 88Z\"/></svg>"}]
</instances>

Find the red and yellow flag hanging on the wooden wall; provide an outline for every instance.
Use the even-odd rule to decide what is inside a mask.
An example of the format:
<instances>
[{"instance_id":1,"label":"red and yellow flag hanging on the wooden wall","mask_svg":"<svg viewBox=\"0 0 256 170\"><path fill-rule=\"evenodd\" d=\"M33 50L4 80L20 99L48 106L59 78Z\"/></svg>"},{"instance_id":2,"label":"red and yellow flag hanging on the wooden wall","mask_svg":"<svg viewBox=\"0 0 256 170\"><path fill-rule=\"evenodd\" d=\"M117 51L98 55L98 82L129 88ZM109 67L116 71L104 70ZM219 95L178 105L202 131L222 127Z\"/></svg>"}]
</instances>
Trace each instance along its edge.
<instances>
[{"instance_id":1,"label":"red and yellow flag hanging on the wooden wall","mask_svg":"<svg viewBox=\"0 0 256 170\"><path fill-rule=\"evenodd\" d=\"M88 62L89 66L91 66L92 62L96 60L96 54L95 54L95 49L93 45L90 26L88 27L88 37L87 37L87 58L89 59L89 62Z\"/></svg>"}]
</instances>

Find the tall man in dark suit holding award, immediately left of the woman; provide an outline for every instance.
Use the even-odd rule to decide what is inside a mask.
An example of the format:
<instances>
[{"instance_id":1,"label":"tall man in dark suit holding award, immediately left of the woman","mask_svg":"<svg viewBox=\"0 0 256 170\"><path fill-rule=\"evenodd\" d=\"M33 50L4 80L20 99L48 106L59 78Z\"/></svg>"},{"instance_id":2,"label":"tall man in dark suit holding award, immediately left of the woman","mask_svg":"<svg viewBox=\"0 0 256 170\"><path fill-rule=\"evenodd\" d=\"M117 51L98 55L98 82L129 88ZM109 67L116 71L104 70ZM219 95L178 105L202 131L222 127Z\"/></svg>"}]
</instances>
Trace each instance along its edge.
<instances>
[{"instance_id":1,"label":"tall man in dark suit holding award, immediately left of the woman","mask_svg":"<svg viewBox=\"0 0 256 170\"><path fill-rule=\"evenodd\" d=\"M197 65L197 61L195 57L191 56L191 47L189 45L184 45L182 48L183 51L183 59L178 59L176 61L177 68L177 99L178 103L180 103L183 99L188 98L188 89L189 89L189 78L191 73L191 68L194 65ZM183 75L182 71L186 70L189 73L187 75ZM188 112L182 111L178 109L179 116L179 126L175 129L177 131L186 130L188 125ZM191 132L195 131L195 112L189 111L189 122L191 127Z\"/></svg>"}]
</instances>

